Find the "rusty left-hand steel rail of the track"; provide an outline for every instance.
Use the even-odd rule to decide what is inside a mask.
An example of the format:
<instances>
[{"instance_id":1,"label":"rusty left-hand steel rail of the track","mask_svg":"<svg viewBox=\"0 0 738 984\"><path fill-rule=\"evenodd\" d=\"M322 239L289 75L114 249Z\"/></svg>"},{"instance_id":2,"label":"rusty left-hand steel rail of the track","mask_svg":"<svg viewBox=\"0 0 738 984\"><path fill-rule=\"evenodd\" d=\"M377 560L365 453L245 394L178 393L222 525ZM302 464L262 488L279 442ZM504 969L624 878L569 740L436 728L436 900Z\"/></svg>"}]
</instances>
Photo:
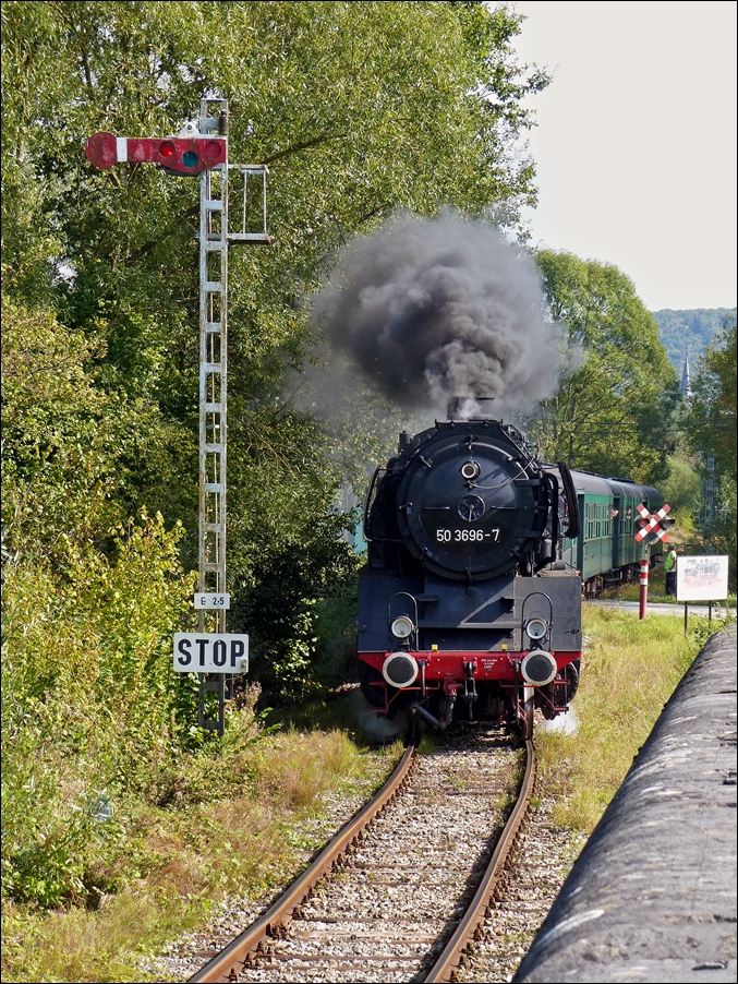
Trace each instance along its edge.
<instances>
[{"instance_id":1,"label":"rusty left-hand steel rail of the track","mask_svg":"<svg viewBox=\"0 0 738 984\"><path fill-rule=\"evenodd\" d=\"M325 874L338 857L352 844L361 831L389 803L412 771L416 756L413 745L408 747L397 768L382 787L379 792L349 820L336 837L320 851L315 861L300 877L292 883L283 896L268 909L261 919L235 937L226 949L205 964L190 977L190 984L211 981L238 981L239 973L246 962L246 957L256 952L259 944L266 938L281 935L292 912L299 908L318 878Z\"/></svg>"}]
</instances>

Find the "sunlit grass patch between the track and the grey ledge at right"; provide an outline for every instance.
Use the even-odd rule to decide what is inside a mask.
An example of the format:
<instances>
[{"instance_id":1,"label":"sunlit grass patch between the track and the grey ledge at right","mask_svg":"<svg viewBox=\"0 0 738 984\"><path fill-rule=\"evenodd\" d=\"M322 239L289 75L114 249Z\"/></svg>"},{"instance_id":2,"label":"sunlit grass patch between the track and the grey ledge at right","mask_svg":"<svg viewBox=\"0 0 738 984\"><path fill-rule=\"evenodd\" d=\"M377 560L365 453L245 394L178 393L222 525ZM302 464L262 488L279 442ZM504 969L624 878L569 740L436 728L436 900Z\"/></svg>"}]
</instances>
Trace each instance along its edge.
<instances>
[{"instance_id":1,"label":"sunlit grass patch between the track and the grey ledge at right","mask_svg":"<svg viewBox=\"0 0 738 984\"><path fill-rule=\"evenodd\" d=\"M540 731L536 745L554 818L591 832L622 782L664 704L718 622L692 620L685 638L680 616L639 621L634 612L585 605L584 657L571 705L572 733ZM573 723L572 722L572 723Z\"/></svg>"}]
</instances>

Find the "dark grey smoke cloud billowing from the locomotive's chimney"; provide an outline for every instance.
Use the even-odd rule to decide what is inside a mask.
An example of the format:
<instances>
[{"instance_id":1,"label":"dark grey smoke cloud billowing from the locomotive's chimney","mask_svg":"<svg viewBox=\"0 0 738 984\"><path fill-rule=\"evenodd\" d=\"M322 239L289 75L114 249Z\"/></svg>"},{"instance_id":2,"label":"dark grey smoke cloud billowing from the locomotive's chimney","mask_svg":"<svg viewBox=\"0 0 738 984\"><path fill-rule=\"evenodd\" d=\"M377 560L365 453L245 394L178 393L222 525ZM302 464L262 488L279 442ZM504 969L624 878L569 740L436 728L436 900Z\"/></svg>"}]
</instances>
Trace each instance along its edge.
<instances>
[{"instance_id":1,"label":"dark grey smoke cloud billowing from the locomotive's chimney","mask_svg":"<svg viewBox=\"0 0 738 984\"><path fill-rule=\"evenodd\" d=\"M558 386L535 266L488 223L397 216L342 251L314 310L331 350L403 409L528 410Z\"/></svg>"}]
</instances>

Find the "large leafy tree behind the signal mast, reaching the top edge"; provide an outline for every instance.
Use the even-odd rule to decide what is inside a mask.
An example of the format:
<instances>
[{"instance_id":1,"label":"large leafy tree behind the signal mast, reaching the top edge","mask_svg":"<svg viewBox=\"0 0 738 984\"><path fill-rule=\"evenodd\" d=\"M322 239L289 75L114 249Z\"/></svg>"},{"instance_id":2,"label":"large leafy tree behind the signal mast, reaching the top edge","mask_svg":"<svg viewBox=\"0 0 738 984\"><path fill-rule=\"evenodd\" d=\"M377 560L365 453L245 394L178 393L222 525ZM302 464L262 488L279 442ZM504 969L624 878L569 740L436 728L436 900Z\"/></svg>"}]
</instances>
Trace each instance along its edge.
<instances>
[{"instance_id":1,"label":"large leafy tree behind the signal mast, reaching the top edge","mask_svg":"<svg viewBox=\"0 0 738 984\"><path fill-rule=\"evenodd\" d=\"M535 199L523 98L547 82L516 62L521 17L480 3L146 0L11 0L2 17L3 283L89 346L85 385L117 408L111 423L128 421L108 506L181 519L194 566L198 191L150 166L98 171L84 144L97 130L176 133L220 93L230 159L269 166L273 236L230 260L234 612L286 550L344 571L340 540L330 556L323 535L301 544L340 525L330 445L276 399L314 341L301 299L347 238L397 207L451 204L517 228ZM86 532L98 547L106 524ZM328 590L302 584L307 600Z\"/></svg>"}]
</instances>

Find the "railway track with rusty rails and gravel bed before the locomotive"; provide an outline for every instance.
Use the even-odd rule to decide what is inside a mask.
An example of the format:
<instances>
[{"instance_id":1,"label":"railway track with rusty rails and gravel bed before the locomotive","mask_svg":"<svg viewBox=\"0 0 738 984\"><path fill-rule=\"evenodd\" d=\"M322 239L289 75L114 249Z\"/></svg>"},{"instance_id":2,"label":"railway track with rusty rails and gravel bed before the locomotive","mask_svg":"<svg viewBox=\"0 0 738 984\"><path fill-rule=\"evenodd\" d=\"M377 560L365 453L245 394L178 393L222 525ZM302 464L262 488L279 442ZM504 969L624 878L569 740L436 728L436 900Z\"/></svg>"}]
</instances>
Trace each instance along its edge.
<instances>
[{"instance_id":1,"label":"railway track with rusty rails and gravel bed before the locomotive","mask_svg":"<svg viewBox=\"0 0 738 984\"><path fill-rule=\"evenodd\" d=\"M531 742L521 757L501 731L471 727L428 755L409 748L288 891L190 980L453 980L530 801Z\"/></svg>"}]
</instances>

